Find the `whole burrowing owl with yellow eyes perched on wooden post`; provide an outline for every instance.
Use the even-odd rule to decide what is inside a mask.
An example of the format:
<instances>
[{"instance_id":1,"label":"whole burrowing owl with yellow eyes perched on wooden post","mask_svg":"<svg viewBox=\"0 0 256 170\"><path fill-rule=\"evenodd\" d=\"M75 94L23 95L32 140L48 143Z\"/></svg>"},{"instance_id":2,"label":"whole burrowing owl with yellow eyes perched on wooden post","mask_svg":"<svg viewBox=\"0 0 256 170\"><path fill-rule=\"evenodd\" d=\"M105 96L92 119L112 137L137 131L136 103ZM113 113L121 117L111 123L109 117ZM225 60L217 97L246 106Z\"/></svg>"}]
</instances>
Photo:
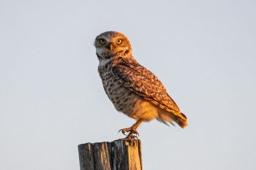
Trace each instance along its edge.
<instances>
[{"instance_id":1,"label":"whole burrowing owl with yellow eyes perched on wooden post","mask_svg":"<svg viewBox=\"0 0 256 170\"><path fill-rule=\"evenodd\" d=\"M181 113L175 101L167 94L164 85L132 55L132 47L124 34L107 31L96 37L99 59L99 76L116 110L134 118L137 122L130 128L125 139L134 138L142 122L157 119L162 123L176 122L186 127L187 117Z\"/></svg>"}]
</instances>

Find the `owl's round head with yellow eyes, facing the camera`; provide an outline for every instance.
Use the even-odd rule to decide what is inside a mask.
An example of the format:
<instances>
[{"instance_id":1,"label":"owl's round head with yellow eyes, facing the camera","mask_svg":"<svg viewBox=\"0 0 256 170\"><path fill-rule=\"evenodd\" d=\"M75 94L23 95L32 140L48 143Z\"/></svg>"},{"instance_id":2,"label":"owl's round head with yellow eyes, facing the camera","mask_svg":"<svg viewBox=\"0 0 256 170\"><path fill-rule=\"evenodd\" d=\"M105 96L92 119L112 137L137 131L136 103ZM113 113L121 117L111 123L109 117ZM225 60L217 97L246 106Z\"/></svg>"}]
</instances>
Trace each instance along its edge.
<instances>
[{"instance_id":1,"label":"owl's round head with yellow eyes, facing the camera","mask_svg":"<svg viewBox=\"0 0 256 170\"><path fill-rule=\"evenodd\" d=\"M116 31L107 31L99 34L94 42L96 52L101 58L108 55L122 53L127 55L132 53L132 47L129 44L127 36Z\"/></svg>"}]
</instances>

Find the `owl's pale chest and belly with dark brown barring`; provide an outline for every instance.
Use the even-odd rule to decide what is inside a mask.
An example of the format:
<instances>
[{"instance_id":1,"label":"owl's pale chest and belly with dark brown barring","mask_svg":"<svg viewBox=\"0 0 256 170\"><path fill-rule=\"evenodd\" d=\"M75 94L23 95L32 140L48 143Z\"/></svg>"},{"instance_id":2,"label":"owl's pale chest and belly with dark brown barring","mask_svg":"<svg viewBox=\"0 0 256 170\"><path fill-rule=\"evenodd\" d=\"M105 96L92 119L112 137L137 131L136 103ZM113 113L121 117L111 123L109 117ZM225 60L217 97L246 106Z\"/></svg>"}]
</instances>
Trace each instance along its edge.
<instances>
[{"instance_id":1,"label":"owl's pale chest and belly with dark brown barring","mask_svg":"<svg viewBox=\"0 0 256 170\"><path fill-rule=\"evenodd\" d=\"M125 88L118 77L113 76L110 65L99 66L98 70L103 88L110 101L112 101L118 111L130 115L136 101L135 94L128 88Z\"/></svg>"}]
</instances>

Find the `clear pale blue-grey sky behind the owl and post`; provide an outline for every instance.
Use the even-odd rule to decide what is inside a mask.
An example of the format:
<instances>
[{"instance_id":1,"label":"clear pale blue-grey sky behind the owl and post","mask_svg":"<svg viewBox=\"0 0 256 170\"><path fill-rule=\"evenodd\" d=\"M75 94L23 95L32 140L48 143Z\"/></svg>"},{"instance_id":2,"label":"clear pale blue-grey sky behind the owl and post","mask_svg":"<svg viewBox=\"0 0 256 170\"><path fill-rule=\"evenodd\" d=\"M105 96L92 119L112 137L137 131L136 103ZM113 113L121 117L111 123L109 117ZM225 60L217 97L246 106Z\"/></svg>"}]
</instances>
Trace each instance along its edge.
<instances>
[{"instance_id":1,"label":"clear pale blue-grey sky behind the owl and post","mask_svg":"<svg viewBox=\"0 0 256 170\"><path fill-rule=\"evenodd\" d=\"M0 169L79 170L113 141L94 38L120 31L188 117L138 129L146 170L256 169L256 1L0 0Z\"/></svg>"}]
</instances>

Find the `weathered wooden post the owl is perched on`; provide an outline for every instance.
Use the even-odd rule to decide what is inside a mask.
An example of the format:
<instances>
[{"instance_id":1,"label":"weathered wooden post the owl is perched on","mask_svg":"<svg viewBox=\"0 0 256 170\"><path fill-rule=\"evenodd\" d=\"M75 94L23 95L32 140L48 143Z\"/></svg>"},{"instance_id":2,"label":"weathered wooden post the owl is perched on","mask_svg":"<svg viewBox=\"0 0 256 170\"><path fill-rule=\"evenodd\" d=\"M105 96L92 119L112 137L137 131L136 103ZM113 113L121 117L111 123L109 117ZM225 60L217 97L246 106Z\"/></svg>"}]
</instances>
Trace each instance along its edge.
<instances>
[{"instance_id":1,"label":"weathered wooden post the owl is perched on","mask_svg":"<svg viewBox=\"0 0 256 170\"><path fill-rule=\"evenodd\" d=\"M80 170L142 170L139 139L78 145Z\"/></svg>"}]
</instances>

